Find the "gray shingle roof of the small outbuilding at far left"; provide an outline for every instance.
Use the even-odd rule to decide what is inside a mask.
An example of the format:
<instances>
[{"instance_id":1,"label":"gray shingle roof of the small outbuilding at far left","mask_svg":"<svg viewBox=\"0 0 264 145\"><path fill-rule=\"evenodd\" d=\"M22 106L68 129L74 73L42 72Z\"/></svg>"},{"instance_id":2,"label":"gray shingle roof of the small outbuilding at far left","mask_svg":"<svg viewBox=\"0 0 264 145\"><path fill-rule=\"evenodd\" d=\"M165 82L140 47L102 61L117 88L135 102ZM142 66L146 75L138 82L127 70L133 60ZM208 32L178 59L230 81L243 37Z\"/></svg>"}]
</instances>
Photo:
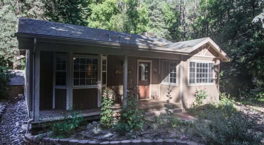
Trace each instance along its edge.
<instances>
[{"instance_id":1,"label":"gray shingle roof of the small outbuilding at far left","mask_svg":"<svg viewBox=\"0 0 264 145\"><path fill-rule=\"evenodd\" d=\"M25 85L25 70L13 70L15 77L10 79L8 85Z\"/></svg>"}]
</instances>

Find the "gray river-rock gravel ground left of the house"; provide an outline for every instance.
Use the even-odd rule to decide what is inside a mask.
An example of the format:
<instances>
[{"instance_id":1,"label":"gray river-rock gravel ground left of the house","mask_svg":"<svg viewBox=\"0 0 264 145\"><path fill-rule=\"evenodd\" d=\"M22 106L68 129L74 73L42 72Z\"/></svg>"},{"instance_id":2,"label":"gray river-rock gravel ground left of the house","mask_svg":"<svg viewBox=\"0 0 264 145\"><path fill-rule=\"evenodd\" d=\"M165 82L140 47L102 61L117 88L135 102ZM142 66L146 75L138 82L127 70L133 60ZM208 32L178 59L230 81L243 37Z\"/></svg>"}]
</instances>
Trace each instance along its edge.
<instances>
[{"instance_id":1,"label":"gray river-rock gravel ground left of the house","mask_svg":"<svg viewBox=\"0 0 264 145\"><path fill-rule=\"evenodd\" d=\"M28 120L25 97L0 100L0 113L0 143L22 144L26 131L21 126Z\"/></svg>"}]
</instances>

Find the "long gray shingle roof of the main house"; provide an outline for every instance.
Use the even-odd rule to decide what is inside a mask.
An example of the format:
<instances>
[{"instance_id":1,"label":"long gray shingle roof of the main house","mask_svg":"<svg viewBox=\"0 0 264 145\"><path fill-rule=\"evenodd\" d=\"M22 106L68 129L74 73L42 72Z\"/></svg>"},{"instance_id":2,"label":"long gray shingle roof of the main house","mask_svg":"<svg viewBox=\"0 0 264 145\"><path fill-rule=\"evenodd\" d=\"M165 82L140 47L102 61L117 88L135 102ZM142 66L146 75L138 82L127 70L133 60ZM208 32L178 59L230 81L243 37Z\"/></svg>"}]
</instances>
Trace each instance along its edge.
<instances>
[{"instance_id":1,"label":"long gray shingle roof of the main house","mask_svg":"<svg viewBox=\"0 0 264 145\"><path fill-rule=\"evenodd\" d=\"M84 26L77 26L64 23L56 23L50 21L42 21L29 18L19 18L18 32L36 35L46 35L55 37L67 37L75 39L97 40L107 42L119 42L118 35L120 35L120 43L134 44L143 46L174 48L186 50L195 44L198 44L202 39L195 39L190 41L183 41L172 43L163 38L143 36L137 34L129 34L117 31L110 31L104 29L90 28ZM111 35L109 40L108 35Z\"/></svg>"}]
</instances>

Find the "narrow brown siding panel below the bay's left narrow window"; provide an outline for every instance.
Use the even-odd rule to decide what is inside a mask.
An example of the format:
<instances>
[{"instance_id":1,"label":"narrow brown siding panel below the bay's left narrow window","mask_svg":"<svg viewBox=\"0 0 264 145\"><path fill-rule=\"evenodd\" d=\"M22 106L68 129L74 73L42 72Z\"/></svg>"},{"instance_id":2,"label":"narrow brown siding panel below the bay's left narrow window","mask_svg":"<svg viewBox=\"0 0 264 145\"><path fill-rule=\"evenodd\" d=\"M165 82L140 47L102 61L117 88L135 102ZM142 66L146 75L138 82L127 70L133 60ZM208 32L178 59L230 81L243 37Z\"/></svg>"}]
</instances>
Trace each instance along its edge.
<instances>
[{"instance_id":1,"label":"narrow brown siding panel below the bay's left narrow window","mask_svg":"<svg viewBox=\"0 0 264 145\"><path fill-rule=\"evenodd\" d=\"M55 89L55 109L66 110L67 89Z\"/></svg>"}]
</instances>

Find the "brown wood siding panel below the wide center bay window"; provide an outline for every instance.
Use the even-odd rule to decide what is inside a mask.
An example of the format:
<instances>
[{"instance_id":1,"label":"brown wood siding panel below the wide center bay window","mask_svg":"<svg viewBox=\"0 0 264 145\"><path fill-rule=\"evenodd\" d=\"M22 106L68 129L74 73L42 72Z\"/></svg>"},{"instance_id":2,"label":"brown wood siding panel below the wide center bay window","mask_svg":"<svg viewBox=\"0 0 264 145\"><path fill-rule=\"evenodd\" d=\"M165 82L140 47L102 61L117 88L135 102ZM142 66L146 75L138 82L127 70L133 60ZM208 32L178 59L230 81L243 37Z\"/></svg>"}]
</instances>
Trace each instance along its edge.
<instances>
[{"instance_id":1,"label":"brown wood siding panel below the wide center bay window","mask_svg":"<svg viewBox=\"0 0 264 145\"><path fill-rule=\"evenodd\" d=\"M87 109L97 107L98 89L73 89L73 105L76 109Z\"/></svg>"}]
</instances>

